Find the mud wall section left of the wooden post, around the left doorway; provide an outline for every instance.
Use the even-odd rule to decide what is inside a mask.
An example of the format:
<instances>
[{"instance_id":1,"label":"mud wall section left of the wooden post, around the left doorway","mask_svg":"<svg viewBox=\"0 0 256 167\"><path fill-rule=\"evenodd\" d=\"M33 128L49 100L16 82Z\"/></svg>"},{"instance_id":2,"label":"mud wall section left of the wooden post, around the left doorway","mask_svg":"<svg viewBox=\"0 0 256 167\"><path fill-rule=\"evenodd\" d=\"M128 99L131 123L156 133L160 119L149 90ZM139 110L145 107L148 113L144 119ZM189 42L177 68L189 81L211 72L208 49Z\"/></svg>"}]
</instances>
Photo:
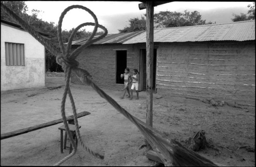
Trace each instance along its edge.
<instances>
[{"instance_id":1,"label":"mud wall section left of the wooden post, around the left doorway","mask_svg":"<svg viewBox=\"0 0 256 167\"><path fill-rule=\"evenodd\" d=\"M139 46L139 45L138 45ZM127 50L127 67L139 68L139 49L135 45L98 44L85 48L77 57L79 68L87 70L93 81L99 86L121 89L123 84L116 84L116 50ZM71 82L81 84L72 72Z\"/></svg>"}]
</instances>

